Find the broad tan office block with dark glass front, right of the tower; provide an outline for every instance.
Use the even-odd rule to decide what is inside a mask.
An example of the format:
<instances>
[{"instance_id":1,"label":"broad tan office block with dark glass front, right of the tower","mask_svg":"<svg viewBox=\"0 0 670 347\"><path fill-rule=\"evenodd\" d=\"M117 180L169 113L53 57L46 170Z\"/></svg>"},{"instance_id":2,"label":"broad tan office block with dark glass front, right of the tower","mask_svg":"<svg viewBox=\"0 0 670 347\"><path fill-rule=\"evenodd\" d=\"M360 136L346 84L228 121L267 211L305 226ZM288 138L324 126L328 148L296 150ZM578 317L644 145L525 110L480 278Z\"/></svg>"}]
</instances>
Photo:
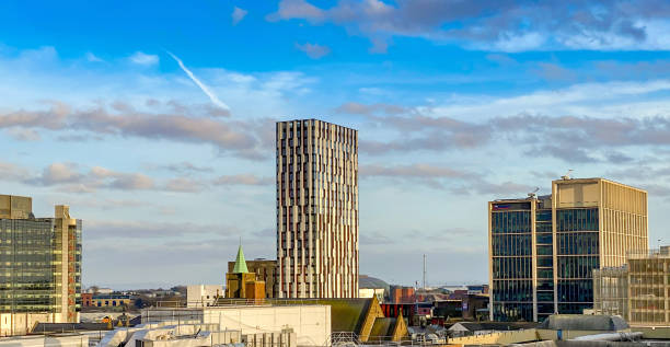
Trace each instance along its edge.
<instances>
[{"instance_id":1,"label":"broad tan office block with dark glass front, right of the tower","mask_svg":"<svg viewBox=\"0 0 670 347\"><path fill-rule=\"evenodd\" d=\"M592 270L646 250L647 192L557 180L552 195L488 203L490 319L541 321L593 306Z\"/></svg>"}]
</instances>

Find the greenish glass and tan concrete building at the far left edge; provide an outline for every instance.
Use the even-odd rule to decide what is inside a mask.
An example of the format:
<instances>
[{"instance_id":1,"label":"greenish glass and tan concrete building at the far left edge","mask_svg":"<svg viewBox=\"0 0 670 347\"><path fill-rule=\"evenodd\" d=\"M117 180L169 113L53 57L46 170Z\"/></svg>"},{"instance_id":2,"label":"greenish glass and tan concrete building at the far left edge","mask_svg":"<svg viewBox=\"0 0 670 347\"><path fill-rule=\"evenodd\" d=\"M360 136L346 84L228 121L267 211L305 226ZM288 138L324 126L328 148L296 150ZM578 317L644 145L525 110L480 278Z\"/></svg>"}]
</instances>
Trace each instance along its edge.
<instances>
[{"instance_id":1,"label":"greenish glass and tan concrete building at the far left edge","mask_svg":"<svg viewBox=\"0 0 670 347\"><path fill-rule=\"evenodd\" d=\"M35 321L79 322L81 220L62 205L54 218L35 218L32 205L0 195L2 335L24 334Z\"/></svg>"}]
</instances>

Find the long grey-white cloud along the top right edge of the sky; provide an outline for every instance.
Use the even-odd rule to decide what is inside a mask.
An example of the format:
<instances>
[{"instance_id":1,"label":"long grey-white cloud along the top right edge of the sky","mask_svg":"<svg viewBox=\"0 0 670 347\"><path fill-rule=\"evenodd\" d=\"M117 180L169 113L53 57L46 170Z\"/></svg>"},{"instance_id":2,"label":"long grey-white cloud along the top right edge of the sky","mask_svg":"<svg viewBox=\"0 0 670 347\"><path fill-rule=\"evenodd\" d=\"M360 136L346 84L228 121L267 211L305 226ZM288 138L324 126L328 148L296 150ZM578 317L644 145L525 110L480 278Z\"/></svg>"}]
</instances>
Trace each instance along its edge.
<instances>
[{"instance_id":1,"label":"long grey-white cloud along the top right edge of the sky","mask_svg":"<svg viewBox=\"0 0 670 347\"><path fill-rule=\"evenodd\" d=\"M460 1L340 0L319 8L304 0L282 0L270 21L307 20L343 25L369 37L384 51L393 36L426 37L490 50L667 49L649 37L651 21L668 22L663 1ZM643 49L645 49L643 48Z\"/></svg>"}]
</instances>

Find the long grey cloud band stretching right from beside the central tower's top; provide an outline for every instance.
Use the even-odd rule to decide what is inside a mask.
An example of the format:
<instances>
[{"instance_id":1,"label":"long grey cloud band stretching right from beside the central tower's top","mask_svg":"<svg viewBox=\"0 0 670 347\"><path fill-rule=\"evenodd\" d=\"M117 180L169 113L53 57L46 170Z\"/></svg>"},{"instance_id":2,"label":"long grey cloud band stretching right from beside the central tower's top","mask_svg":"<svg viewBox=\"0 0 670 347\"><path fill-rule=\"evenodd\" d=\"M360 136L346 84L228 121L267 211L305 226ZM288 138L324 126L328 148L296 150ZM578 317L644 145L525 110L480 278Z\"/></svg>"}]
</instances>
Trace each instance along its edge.
<instances>
[{"instance_id":1,"label":"long grey cloud band stretching right from beside the central tower's top","mask_svg":"<svg viewBox=\"0 0 670 347\"><path fill-rule=\"evenodd\" d=\"M622 150L670 146L670 116L603 118L519 114L476 123L428 117L415 109L403 116L372 115L367 119L402 135L384 142L361 140L360 151L369 154L475 149L503 139L530 157L553 157L577 163L624 163L632 158Z\"/></svg>"}]
</instances>

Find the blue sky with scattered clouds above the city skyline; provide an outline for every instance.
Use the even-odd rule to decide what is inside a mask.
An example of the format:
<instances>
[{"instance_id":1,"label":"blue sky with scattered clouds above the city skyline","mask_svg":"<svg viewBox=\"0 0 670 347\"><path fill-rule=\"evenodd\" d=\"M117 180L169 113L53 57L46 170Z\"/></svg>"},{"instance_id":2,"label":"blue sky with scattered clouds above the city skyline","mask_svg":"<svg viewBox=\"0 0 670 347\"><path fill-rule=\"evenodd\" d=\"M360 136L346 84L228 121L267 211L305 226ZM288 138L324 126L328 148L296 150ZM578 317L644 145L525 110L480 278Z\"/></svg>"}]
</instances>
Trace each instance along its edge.
<instances>
[{"instance_id":1,"label":"blue sky with scattered clouds above the city skyline","mask_svg":"<svg viewBox=\"0 0 670 347\"><path fill-rule=\"evenodd\" d=\"M275 122L359 130L360 273L488 278L487 201L574 170L670 242L670 2L0 2L0 192L83 220L84 287L275 257Z\"/></svg>"}]
</instances>

